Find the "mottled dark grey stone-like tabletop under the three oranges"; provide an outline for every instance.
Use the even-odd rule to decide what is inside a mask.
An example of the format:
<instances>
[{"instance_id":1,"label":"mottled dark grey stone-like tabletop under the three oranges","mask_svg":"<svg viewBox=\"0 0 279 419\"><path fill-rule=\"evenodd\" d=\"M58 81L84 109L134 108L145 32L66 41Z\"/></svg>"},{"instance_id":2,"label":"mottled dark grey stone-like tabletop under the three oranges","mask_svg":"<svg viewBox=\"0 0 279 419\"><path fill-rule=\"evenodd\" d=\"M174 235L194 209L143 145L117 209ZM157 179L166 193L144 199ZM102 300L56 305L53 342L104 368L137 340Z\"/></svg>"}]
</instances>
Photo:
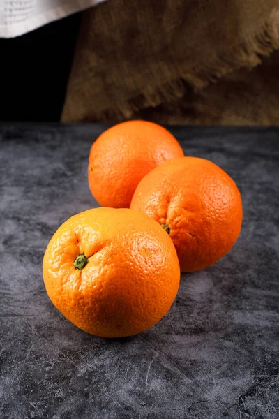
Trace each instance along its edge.
<instances>
[{"instance_id":1,"label":"mottled dark grey stone-like tabletop under the three oranges","mask_svg":"<svg viewBox=\"0 0 279 419\"><path fill-rule=\"evenodd\" d=\"M183 274L176 301L127 339L86 335L48 299L43 253L96 206L86 179L100 125L0 127L0 417L279 418L279 131L173 128L243 198L234 249Z\"/></svg>"}]
</instances>

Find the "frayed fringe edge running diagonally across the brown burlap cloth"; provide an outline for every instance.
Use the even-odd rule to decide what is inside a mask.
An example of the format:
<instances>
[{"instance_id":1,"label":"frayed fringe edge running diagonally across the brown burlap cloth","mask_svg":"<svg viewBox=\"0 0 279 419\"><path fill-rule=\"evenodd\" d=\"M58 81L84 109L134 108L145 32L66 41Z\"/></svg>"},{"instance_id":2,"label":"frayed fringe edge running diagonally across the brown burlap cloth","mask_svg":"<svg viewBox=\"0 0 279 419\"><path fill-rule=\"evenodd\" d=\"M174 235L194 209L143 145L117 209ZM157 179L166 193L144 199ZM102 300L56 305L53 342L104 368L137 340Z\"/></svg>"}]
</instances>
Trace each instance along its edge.
<instances>
[{"instance_id":1,"label":"frayed fringe edge running diagonally across the brown burlap cloth","mask_svg":"<svg viewBox=\"0 0 279 419\"><path fill-rule=\"evenodd\" d=\"M195 68L180 69L180 77L169 80L158 86L147 86L144 91L128 101L112 105L110 108L84 115L82 121L102 120L121 121L130 119L140 110L156 108L162 103L182 98L189 87L194 91L202 91L209 84L218 82L229 73L240 68L253 68L262 64L261 57L269 56L279 48L279 10L273 10L268 22L265 22L257 34L250 36L239 45L234 46L223 55L212 57L206 65L201 64ZM80 122L62 116L62 122Z\"/></svg>"}]
</instances>

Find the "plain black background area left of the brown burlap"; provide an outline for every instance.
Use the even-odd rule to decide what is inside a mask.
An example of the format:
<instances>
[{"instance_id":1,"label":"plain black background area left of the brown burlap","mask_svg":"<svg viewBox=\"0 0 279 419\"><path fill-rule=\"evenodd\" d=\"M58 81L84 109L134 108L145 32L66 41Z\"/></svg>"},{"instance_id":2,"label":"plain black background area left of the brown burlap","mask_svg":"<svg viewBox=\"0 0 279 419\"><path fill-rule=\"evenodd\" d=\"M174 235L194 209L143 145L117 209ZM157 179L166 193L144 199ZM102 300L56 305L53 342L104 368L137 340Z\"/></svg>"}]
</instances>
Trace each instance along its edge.
<instances>
[{"instance_id":1,"label":"plain black background area left of the brown burlap","mask_svg":"<svg viewBox=\"0 0 279 419\"><path fill-rule=\"evenodd\" d=\"M59 121L80 15L0 39L1 121Z\"/></svg>"}]
</instances>

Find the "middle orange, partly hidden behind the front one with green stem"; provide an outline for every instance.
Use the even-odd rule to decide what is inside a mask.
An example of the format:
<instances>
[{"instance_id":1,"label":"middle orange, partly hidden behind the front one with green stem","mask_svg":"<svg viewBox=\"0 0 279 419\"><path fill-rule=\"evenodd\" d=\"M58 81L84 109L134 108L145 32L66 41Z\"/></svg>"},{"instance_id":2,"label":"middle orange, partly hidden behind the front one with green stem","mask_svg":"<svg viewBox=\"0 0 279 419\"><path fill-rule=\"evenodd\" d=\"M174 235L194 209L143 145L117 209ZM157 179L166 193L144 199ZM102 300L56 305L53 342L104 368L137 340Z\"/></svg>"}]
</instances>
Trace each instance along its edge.
<instances>
[{"instance_id":1,"label":"middle orange, partly hidden behind the front one with green stem","mask_svg":"<svg viewBox=\"0 0 279 419\"><path fill-rule=\"evenodd\" d=\"M182 272L216 263L241 230L239 189L206 159L183 157L163 163L137 186L131 208L169 226Z\"/></svg>"}]
</instances>

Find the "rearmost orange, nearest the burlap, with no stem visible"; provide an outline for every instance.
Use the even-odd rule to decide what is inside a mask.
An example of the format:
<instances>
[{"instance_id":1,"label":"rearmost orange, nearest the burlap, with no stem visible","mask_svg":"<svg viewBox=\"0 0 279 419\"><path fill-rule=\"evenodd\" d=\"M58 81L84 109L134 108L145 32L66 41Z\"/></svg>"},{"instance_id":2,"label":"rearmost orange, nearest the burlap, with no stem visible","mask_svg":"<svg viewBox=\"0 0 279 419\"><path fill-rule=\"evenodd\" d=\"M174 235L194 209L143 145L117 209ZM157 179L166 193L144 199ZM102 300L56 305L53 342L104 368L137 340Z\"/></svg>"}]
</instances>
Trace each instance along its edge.
<instances>
[{"instance_id":1,"label":"rearmost orange, nearest the burlap, with no stem visible","mask_svg":"<svg viewBox=\"0 0 279 419\"><path fill-rule=\"evenodd\" d=\"M130 207L137 184L148 172L182 156L179 142L163 126L145 121L117 124L101 134L91 147L91 193L104 207Z\"/></svg>"}]
</instances>

